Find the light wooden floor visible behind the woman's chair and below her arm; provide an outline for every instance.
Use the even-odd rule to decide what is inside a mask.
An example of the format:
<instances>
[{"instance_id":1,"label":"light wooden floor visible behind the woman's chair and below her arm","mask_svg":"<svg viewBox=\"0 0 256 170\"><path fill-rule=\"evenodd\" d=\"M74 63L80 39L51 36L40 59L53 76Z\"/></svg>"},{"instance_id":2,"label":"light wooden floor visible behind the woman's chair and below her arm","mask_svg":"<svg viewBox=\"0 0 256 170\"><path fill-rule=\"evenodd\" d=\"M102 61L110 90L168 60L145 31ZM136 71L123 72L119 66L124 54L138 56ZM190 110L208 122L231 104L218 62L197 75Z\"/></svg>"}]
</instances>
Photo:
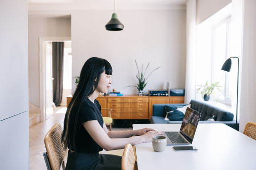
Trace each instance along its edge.
<instances>
[{"instance_id":1,"label":"light wooden floor visible behind the woman's chair and below her arm","mask_svg":"<svg viewBox=\"0 0 256 170\"><path fill-rule=\"evenodd\" d=\"M46 151L44 146L44 136L55 123L60 123L63 127L63 120L65 114L56 113L61 108L62 107L56 107L56 110L54 111L53 115L46 121L39 122L29 127L29 168L31 170L47 170L43 157L43 152ZM132 128L112 128L112 131L122 131L131 129ZM122 155L122 152L123 149L103 151L103 153L117 155Z\"/></svg>"}]
</instances>

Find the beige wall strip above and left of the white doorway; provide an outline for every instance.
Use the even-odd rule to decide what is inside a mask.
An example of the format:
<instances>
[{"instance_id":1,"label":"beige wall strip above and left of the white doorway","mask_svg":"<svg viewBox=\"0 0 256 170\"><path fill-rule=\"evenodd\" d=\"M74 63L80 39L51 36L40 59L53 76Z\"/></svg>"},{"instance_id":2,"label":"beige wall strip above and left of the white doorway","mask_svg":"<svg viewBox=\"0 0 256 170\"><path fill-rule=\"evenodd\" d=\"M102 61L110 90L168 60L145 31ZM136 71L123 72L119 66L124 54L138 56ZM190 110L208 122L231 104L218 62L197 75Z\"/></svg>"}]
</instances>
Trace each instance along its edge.
<instances>
[{"instance_id":1,"label":"beige wall strip above and left of the white doorway","mask_svg":"<svg viewBox=\"0 0 256 170\"><path fill-rule=\"evenodd\" d=\"M71 37L69 18L29 16L29 102L40 107L39 37Z\"/></svg>"}]
</instances>

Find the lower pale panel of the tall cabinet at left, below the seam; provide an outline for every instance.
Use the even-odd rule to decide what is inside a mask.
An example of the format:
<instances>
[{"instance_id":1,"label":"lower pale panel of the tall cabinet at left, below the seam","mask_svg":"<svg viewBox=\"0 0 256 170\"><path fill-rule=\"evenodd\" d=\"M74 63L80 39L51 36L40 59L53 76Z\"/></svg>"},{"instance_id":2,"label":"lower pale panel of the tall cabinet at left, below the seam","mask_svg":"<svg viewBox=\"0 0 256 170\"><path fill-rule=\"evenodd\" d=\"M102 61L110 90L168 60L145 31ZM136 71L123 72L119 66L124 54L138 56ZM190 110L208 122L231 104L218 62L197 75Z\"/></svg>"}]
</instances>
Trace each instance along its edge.
<instances>
[{"instance_id":1,"label":"lower pale panel of the tall cabinet at left, below the seam","mask_svg":"<svg viewBox=\"0 0 256 170\"><path fill-rule=\"evenodd\" d=\"M29 169L28 111L0 121L0 169Z\"/></svg>"}]
</instances>

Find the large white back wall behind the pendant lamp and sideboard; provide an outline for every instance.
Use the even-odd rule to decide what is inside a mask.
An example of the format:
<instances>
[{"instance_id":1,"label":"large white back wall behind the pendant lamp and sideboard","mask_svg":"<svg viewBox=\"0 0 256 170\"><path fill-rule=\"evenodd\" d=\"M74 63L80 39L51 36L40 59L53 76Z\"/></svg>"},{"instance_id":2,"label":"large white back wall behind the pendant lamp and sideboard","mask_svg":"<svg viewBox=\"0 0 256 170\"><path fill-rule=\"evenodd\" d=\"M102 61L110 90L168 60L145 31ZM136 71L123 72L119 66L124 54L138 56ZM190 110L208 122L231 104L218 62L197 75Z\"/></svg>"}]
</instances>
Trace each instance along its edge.
<instances>
[{"instance_id":1,"label":"large white back wall behind the pendant lamp and sideboard","mask_svg":"<svg viewBox=\"0 0 256 170\"><path fill-rule=\"evenodd\" d=\"M84 62L96 56L113 67L112 88L123 94L137 94L137 68L150 62L148 89L185 88L186 10L117 11L124 30L111 32L105 25L112 11L76 11L71 15L72 77L80 74ZM74 90L73 83L73 90Z\"/></svg>"}]
</instances>

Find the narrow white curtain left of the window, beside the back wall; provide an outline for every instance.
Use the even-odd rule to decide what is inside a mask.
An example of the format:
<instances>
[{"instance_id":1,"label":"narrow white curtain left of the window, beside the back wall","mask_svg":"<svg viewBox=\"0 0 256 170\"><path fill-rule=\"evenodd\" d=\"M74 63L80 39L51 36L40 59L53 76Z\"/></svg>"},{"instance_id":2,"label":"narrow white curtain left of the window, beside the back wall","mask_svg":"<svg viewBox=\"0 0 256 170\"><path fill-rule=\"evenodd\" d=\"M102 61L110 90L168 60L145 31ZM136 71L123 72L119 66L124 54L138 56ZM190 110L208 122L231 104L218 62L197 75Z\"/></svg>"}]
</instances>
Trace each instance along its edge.
<instances>
[{"instance_id":1,"label":"narrow white curtain left of the window, beside the back wall","mask_svg":"<svg viewBox=\"0 0 256 170\"><path fill-rule=\"evenodd\" d=\"M187 1L187 60L185 103L196 97L196 0Z\"/></svg>"}]
</instances>

